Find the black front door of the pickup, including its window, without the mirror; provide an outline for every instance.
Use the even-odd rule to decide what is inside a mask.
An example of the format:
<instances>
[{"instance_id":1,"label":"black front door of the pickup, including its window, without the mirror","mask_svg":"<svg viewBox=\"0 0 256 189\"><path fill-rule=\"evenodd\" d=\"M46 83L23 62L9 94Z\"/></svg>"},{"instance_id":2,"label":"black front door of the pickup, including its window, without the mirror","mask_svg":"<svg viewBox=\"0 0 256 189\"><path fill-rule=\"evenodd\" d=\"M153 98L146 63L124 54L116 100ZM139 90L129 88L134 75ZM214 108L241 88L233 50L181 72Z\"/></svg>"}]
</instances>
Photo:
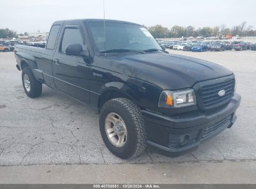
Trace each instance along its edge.
<instances>
[{"instance_id":1,"label":"black front door of the pickup, including its window, without the mirror","mask_svg":"<svg viewBox=\"0 0 256 189\"><path fill-rule=\"evenodd\" d=\"M79 25L66 25L59 47L53 57L52 71L57 89L82 101L89 101L90 65L82 57L65 54L67 45L81 44L85 49L83 32Z\"/></svg>"}]
</instances>

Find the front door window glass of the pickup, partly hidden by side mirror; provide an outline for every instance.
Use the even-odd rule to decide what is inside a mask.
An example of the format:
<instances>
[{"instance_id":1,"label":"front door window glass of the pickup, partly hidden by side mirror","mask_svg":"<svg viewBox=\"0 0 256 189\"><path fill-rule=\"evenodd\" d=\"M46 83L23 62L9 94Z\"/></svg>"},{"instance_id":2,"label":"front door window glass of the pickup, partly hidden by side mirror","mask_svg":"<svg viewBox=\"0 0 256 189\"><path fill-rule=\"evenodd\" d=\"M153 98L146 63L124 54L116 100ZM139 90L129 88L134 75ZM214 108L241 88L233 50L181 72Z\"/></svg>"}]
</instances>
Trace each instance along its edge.
<instances>
[{"instance_id":1,"label":"front door window glass of the pickup, partly hidden by side mirror","mask_svg":"<svg viewBox=\"0 0 256 189\"><path fill-rule=\"evenodd\" d=\"M66 28L62 38L60 51L62 53L65 53L65 49L67 45L72 45L72 44L80 44L83 47L83 40L80 34L80 30L75 28Z\"/></svg>"}]
</instances>

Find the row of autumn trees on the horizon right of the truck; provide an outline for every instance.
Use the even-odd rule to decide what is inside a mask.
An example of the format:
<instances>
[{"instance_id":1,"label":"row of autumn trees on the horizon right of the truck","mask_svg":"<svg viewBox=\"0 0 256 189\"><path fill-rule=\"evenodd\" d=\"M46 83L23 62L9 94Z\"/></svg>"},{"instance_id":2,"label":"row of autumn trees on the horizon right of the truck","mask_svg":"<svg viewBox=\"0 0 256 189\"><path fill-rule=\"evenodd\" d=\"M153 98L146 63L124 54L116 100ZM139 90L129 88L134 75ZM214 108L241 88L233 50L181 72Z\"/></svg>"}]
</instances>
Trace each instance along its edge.
<instances>
[{"instance_id":1,"label":"row of autumn trees on the horizon right of the truck","mask_svg":"<svg viewBox=\"0 0 256 189\"><path fill-rule=\"evenodd\" d=\"M229 28L226 27L225 24L215 27L199 27L195 28L192 25L187 27L174 25L171 29L168 27L163 27L162 25L154 25L148 27L149 32L155 38L178 38L178 37L216 37L221 35L229 35L232 36L239 35L239 36L256 36L256 30L253 29L252 25L246 26L246 22L242 22L239 25L234 25L233 27Z\"/></svg>"}]
</instances>

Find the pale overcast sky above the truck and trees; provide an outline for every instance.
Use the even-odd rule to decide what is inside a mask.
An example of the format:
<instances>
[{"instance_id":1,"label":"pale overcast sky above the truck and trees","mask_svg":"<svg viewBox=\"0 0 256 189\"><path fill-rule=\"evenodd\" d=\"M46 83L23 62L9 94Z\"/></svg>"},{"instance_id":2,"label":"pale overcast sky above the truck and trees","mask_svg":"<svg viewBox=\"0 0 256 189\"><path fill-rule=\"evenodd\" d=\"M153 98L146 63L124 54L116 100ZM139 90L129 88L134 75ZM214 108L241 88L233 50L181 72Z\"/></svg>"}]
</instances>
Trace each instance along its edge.
<instances>
[{"instance_id":1,"label":"pale overcast sky above the truck and trees","mask_svg":"<svg viewBox=\"0 0 256 189\"><path fill-rule=\"evenodd\" d=\"M7 0L0 2L0 12L0 29L48 32L54 21L102 18L103 0ZM168 28L221 24L232 27L246 21L247 26L256 29L256 1L105 0L105 18Z\"/></svg>"}]
</instances>

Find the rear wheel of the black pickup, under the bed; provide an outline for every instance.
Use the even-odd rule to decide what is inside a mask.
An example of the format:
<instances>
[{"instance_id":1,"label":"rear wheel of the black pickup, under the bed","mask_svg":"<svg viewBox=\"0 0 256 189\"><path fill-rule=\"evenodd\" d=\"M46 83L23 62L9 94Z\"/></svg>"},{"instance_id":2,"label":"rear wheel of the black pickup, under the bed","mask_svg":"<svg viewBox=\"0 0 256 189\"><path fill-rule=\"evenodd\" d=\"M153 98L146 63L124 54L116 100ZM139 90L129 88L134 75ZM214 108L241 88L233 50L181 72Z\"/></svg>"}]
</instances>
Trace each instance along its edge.
<instances>
[{"instance_id":1,"label":"rear wheel of the black pickup, under the bed","mask_svg":"<svg viewBox=\"0 0 256 189\"><path fill-rule=\"evenodd\" d=\"M22 70L22 85L30 98L37 98L42 94L42 83L36 80L29 67Z\"/></svg>"}]
</instances>

